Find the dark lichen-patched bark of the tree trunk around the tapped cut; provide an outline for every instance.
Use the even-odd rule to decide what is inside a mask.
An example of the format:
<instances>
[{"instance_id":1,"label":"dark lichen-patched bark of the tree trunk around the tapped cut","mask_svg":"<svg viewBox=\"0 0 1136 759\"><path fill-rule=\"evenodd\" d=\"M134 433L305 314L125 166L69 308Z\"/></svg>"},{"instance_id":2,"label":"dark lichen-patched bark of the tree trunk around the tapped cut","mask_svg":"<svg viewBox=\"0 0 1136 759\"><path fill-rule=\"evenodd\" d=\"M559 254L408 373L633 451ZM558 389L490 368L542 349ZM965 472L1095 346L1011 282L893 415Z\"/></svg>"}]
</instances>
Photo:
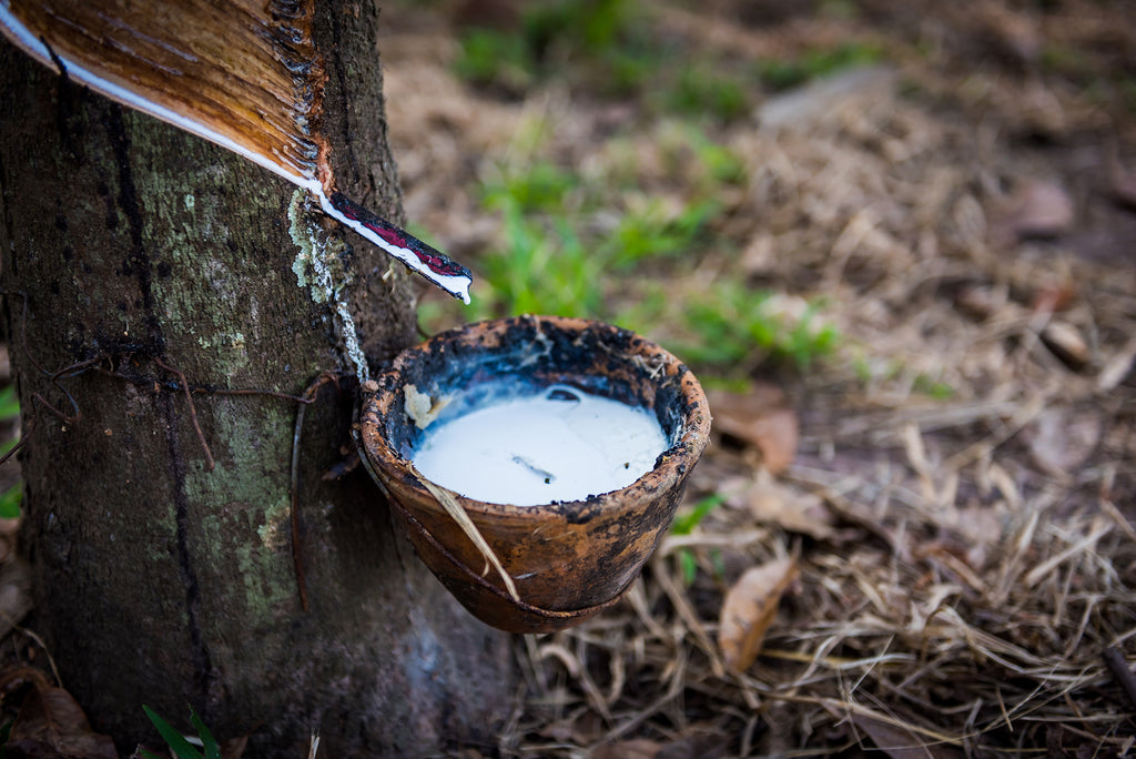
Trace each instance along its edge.
<instances>
[{"instance_id":1,"label":"dark lichen-patched bark of the tree trunk around the tapped cut","mask_svg":"<svg viewBox=\"0 0 1136 759\"><path fill-rule=\"evenodd\" d=\"M377 14L337 2L318 12L341 189L398 220ZM0 90L34 625L94 728L125 751L160 745L147 703L185 727L192 706L219 736L251 732L248 756L307 756L312 733L334 757L492 742L512 691L508 640L428 575L361 469L321 478L345 458L353 385L327 384L306 409L307 611L290 523L299 404L199 392L191 407L177 390L179 372L195 387L298 395L321 372L350 369L328 307L293 270L293 189L2 40ZM415 340L414 284L358 237L346 243L360 275L352 309L377 364ZM77 419L40 400L72 416L68 393Z\"/></svg>"}]
</instances>

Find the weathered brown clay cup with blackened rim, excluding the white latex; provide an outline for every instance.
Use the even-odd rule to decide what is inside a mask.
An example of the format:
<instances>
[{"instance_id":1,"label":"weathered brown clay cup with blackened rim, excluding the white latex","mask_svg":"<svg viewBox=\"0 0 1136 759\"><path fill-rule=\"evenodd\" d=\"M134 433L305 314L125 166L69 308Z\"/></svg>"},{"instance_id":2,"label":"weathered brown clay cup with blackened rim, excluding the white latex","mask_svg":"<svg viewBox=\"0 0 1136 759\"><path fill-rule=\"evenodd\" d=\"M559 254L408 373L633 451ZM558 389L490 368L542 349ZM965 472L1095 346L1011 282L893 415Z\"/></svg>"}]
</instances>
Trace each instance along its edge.
<instances>
[{"instance_id":1,"label":"weathered brown clay cup with blackened rim, excluding the white latex","mask_svg":"<svg viewBox=\"0 0 1136 759\"><path fill-rule=\"evenodd\" d=\"M478 619L513 633L562 629L619 599L670 526L710 433L705 395L685 365L632 332L584 319L521 316L469 324L407 349L376 384L367 387L360 414L367 468L434 575ZM643 407L669 447L633 484L578 501L486 503L424 484L411 458L431 406L460 406L502 384L570 385ZM408 409L408 394L420 402ZM473 520L518 598L440 502L438 491Z\"/></svg>"}]
</instances>

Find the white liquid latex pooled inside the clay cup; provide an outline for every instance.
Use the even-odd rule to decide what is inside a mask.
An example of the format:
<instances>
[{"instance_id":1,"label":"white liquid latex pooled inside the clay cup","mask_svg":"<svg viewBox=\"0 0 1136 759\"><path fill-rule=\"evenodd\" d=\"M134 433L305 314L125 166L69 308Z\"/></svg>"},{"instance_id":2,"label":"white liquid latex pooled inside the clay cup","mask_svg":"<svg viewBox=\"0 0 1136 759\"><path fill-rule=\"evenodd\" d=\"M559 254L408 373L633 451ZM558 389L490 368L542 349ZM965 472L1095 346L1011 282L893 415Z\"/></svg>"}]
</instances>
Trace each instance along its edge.
<instances>
[{"instance_id":1,"label":"white liquid latex pooled inside the clay cup","mask_svg":"<svg viewBox=\"0 0 1136 759\"><path fill-rule=\"evenodd\" d=\"M467 498L540 506L626 487L667 448L646 409L554 385L431 425L412 460Z\"/></svg>"}]
</instances>

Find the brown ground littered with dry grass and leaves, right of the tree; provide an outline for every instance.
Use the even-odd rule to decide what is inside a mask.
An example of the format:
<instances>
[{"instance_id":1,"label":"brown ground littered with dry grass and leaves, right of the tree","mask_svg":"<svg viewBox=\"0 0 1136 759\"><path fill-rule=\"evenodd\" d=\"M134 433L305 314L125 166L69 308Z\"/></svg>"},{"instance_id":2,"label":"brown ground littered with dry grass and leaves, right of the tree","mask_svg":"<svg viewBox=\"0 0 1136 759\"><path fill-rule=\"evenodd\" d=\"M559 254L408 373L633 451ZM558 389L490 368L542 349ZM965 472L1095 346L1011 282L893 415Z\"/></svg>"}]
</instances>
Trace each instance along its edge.
<instances>
[{"instance_id":1,"label":"brown ground littered with dry grass and leaves, right of the tree","mask_svg":"<svg viewBox=\"0 0 1136 759\"><path fill-rule=\"evenodd\" d=\"M682 205L700 181L668 162L680 119L568 62L506 91L458 78L461 35L517 12L382 17L407 216L475 275L506 234L477 187L507 169L602 178L618 144L641 194ZM615 610L518 642L521 706L462 756L1130 753L1136 3L707 0L650 18L692 66L882 51L695 119L743 178L685 268L610 275L609 306L662 289L663 344L722 283L790 316L815 305L838 339L803 367L758 351L729 382L695 365L718 434L686 528ZM462 318L445 314L427 327Z\"/></svg>"}]
</instances>

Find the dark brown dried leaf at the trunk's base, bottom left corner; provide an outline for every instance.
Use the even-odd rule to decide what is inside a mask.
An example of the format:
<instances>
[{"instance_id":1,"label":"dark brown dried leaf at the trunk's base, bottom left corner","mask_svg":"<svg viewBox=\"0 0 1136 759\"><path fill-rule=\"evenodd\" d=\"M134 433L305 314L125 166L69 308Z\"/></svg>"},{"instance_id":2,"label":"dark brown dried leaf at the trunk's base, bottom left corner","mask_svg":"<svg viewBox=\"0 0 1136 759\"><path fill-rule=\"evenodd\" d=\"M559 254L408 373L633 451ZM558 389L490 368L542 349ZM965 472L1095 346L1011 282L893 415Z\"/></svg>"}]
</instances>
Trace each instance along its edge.
<instances>
[{"instance_id":1,"label":"dark brown dried leaf at the trunk's base, bottom left corner","mask_svg":"<svg viewBox=\"0 0 1136 759\"><path fill-rule=\"evenodd\" d=\"M61 687L42 681L24 697L8 736L9 757L117 759L115 742L91 729L86 715Z\"/></svg>"}]
</instances>

